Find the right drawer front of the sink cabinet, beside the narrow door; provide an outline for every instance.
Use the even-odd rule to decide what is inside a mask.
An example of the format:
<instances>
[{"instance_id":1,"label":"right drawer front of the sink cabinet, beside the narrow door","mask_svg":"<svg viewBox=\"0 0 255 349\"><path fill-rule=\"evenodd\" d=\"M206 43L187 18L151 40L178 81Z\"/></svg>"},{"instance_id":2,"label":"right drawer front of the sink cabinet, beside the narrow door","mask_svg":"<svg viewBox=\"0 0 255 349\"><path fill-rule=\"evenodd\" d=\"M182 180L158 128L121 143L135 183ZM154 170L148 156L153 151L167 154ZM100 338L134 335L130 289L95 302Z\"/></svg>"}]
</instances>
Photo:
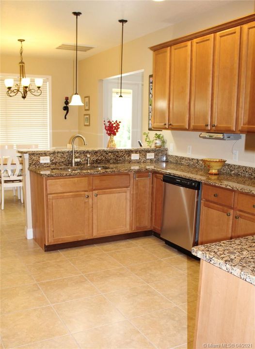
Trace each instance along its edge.
<instances>
[{"instance_id":1,"label":"right drawer front of the sink cabinet, beside the narrow door","mask_svg":"<svg viewBox=\"0 0 255 349\"><path fill-rule=\"evenodd\" d=\"M93 178L93 190L129 188L129 187L130 187L129 174L103 175L103 176L95 176Z\"/></svg>"}]
</instances>

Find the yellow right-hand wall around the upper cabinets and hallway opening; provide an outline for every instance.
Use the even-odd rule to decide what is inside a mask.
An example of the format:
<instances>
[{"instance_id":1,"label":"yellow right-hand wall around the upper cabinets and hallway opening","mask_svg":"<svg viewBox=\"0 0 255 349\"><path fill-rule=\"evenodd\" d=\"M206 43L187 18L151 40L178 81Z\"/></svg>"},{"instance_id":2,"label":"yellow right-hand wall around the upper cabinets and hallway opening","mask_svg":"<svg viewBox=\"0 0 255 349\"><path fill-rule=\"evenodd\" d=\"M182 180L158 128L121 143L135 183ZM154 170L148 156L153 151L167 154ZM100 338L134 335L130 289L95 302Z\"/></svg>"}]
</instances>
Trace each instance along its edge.
<instances>
[{"instance_id":1,"label":"yellow right-hand wall around the upper cabinets and hallway opening","mask_svg":"<svg viewBox=\"0 0 255 349\"><path fill-rule=\"evenodd\" d=\"M229 4L213 11L192 17L185 22L175 24L163 30L153 32L124 45L123 72L128 73L144 70L143 85L143 131L146 131L148 117L148 76L152 74L152 51L148 47L159 44L185 34L196 32L207 27L226 22L240 16L248 15L255 11L255 1L231 1ZM128 18L127 18L128 19ZM128 23L124 27L124 36ZM103 132L101 105L98 99L100 80L120 73L120 47L111 48L95 56L89 57L79 63L79 92L82 96L90 96L91 126L83 126L83 107L79 109L79 132L82 133L90 147L101 146ZM87 112L86 112L87 113ZM153 132L151 132L153 134ZM242 165L255 166L255 149L248 150L245 136L235 145L232 141L221 142L201 140L198 132L162 131L167 140L166 146L174 144L173 155L187 156L188 145L192 146L191 157L224 158L228 162ZM249 143L254 139L249 136ZM239 151L239 161L232 161L232 147Z\"/></svg>"}]
</instances>

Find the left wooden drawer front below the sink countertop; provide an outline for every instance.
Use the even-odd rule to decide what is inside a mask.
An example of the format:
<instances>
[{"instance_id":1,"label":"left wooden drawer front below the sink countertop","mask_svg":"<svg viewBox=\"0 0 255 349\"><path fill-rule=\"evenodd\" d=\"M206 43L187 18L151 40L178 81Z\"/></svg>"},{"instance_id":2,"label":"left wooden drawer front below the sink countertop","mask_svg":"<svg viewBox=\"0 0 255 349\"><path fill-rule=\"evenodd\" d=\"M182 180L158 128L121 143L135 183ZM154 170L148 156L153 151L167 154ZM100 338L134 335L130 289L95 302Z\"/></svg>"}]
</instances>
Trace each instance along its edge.
<instances>
[{"instance_id":1,"label":"left wooden drawer front below the sink countertop","mask_svg":"<svg viewBox=\"0 0 255 349\"><path fill-rule=\"evenodd\" d=\"M47 181L47 190L48 194L89 190L89 182L90 179L88 177L49 179Z\"/></svg>"}]
</instances>

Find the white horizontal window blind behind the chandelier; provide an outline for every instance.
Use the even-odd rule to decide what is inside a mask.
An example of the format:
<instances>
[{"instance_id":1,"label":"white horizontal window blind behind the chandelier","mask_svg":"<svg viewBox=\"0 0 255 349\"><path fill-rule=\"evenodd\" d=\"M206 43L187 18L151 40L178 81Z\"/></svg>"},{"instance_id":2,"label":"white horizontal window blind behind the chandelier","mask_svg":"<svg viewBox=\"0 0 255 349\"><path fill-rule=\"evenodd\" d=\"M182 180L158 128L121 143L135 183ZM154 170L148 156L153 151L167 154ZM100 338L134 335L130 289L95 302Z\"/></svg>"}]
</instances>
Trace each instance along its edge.
<instances>
[{"instance_id":1,"label":"white horizontal window blind behind the chandelier","mask_svg":"<svg viewBox=\"0 0 255 349\"><path fill-rule=\"evenodd\" d=\"M49 147L49 82L43 79L42 94L9 97L0 78L0 144L38 144ZM39 78L39 77L38 77ZM14 84L18 83L14 78ZM34 86L33 79L32 86Z\"/></svg>"}]
</instances>

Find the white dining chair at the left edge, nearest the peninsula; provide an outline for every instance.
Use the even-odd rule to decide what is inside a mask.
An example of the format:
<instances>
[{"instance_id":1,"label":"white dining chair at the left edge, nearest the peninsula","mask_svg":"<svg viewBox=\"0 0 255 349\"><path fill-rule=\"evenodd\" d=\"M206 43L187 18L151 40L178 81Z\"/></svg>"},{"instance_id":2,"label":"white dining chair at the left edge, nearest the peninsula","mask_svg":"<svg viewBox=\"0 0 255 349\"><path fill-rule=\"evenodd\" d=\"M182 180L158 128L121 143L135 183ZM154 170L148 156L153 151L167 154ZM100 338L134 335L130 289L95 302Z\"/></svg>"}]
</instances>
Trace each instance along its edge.
<instances>
[{"instance_id":1,"label":"white dining chair at the left edge, nearest the peninsula","mask_svg":"<svg viewBox=\"0 0 255 349\"><path fill-rule=\"evenodd\" d=\"M6 159L7 163L4 161ZM22 166L19 163L16 149L0 149L0 170L1 209L4 209L5 188L19 188L20 200L23 203L23 176L21 174Z\"/></svg>"}]
</instances>

